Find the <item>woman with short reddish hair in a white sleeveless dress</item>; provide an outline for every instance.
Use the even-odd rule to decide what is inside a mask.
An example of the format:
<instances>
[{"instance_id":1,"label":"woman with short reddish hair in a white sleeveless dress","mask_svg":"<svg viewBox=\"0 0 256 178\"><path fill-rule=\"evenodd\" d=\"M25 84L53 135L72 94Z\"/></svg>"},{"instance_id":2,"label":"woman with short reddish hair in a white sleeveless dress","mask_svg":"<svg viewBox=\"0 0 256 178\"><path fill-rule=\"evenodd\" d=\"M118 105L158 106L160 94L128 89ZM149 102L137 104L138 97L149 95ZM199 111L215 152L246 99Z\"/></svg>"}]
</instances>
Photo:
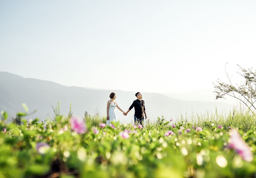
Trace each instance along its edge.
<instances>
[{"instance_id":1,"label":"woman with short reddish hair in a white sleeveless dress","mask_svg":"<svg viewBox=\"0 0 256 178\"><path fill-rule=\"evenodd\" d=\"M121 112L124 113L124 111L117 105L116 101L115 101L115 93L110 93L110 100L107 101L107 125L110 125L111 121L115 121L117 122L117 117L115 114L115 107L117 107L117 109L119 109Z\"/></svg>"}]
</instances>

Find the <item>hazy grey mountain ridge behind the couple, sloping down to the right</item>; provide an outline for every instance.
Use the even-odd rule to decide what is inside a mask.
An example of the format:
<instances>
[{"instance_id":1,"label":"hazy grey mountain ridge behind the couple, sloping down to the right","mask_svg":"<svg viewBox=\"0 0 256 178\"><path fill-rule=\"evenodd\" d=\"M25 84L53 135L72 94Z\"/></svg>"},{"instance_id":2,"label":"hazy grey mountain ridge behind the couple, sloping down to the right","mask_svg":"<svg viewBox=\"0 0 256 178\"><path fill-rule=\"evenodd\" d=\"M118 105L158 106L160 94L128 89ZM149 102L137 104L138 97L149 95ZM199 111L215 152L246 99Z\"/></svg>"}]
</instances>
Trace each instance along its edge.
<instances>
[{"instance_id":1,"label":"hazy grey mountain ridge behind the couple, sloping down to the right","mask_svg":"<svg viewBox=\"0 0 256 178\"><path fill-rule=\"evenodd\" d=\"M8 72L0 72L0 110L9 114L9 120L15 117L17 112L23 112L22 103L26 103L29 112L37 109L37 112L27 118L38 117L45 120L46 117L53 118L52 105L60 102L60 112L67 115L70 103L74 115L83 117L85 111L94 115L106 115L107 101L109 94L116 93L116 100L121 109L126 112L129 106L136 99L135 93L122 90L94 90L75 86L64 86L55 82L38 80L33 78L23 78ZM173 99L159 93L142 92L145 108L149 120L153 121L157 117L164 115L166 118L175 119L180 114L191 114L191 112L214 112L232 107L225 103L206 101L182 101ZM124 116L119 110L117 117L121 122L130 123L133 120L134 109Z\"/></svg>"}]
</instances>

